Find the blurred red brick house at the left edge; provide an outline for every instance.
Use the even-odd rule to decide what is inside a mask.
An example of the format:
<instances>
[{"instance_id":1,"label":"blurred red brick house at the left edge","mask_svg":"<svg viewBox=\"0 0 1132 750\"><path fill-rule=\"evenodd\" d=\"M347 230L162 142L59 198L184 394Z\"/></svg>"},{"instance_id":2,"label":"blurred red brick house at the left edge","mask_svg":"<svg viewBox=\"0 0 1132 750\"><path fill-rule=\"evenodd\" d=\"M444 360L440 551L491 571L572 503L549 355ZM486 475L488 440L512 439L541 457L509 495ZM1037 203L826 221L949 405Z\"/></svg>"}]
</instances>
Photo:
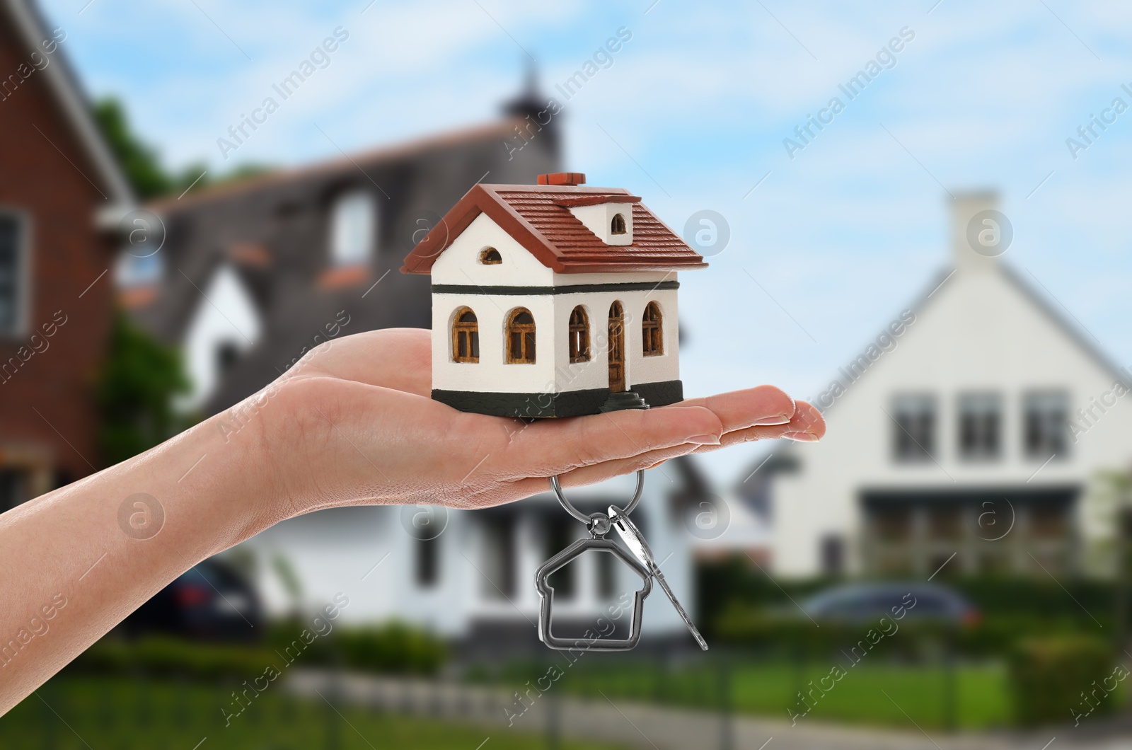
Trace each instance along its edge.
<instances>
[{"instance_id":1,"label":"blurred red brick house at the left edge","mask_svg":"<svg viewBox=\"0 0 1132 750\"><path fill-rule=\"evenodd\" d=\"M0 2L0 512L101 467L102 274L132 195L66 39L34 3Z\"/></svg>"}]
</instances>

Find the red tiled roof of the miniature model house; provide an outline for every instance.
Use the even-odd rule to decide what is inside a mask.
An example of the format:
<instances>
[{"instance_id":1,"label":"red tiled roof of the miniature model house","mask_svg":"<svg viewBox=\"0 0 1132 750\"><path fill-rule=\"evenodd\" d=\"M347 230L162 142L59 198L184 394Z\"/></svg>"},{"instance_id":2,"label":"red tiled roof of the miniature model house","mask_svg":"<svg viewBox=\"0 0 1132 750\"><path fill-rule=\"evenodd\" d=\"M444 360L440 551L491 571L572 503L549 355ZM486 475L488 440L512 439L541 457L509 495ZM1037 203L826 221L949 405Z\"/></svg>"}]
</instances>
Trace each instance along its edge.
<instances>
[{"instance_id":1,"label":"red tiled roof of the miniature model house","mask_svg":"<svg viewBox=\"0 0 1132 750\"><path fill-rule=\"evenodd\" d=\"M600 203L632 205L631 245L606 245L569 210ZM429 273L436 258L481 213L557 273L675 271L707 265L642 205L641 198L624 188L477 185L405 257L402 273Z\"/></svg>"}]
</instances>

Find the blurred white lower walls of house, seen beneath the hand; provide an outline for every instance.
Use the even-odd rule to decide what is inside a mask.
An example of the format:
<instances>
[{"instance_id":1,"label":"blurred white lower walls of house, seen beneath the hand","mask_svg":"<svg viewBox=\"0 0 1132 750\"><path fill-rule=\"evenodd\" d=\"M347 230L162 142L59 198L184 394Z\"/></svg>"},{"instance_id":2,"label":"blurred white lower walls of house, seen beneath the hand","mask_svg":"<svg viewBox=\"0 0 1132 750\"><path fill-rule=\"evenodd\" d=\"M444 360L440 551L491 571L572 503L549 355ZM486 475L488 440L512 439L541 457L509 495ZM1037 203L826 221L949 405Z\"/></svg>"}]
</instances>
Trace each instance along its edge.
<instances>
[{"instance_id":1,"label":"blurred white lower walls of house, seen beneath the hand","mask_svg":"<svg viewBox=\"0 0 1132 750\"><path fill-rule=\"evenodd\" d=\"M591 513L624 504L633 486L628 476L568 494L583 513ZM705 493L695 463L676 459L646 472L645 493L633 512L664 577L689 606L695 602L694 539L683 510ZM252 549L264 563L258 565L258 588L269 613L292 606L272 570L273 561L285 559L302 583L306 605L324 605L341 591L350 597L344 621L401 620L460 641L465 655L494 654L543 648L534 628L534 572L585 535L585 527L543 493L478 511L438 505L320 511L283 521L237 549ZM600 553L571 563L551 585L556 634L565 637L597 628L599 616L608 619L610 606L641 587L631 569ZM628 616L615 624L627 629ZM645 602L642 637L653 642L687 638L695 648L668 599L655 593Z\"/></svg>"}]
</instances>

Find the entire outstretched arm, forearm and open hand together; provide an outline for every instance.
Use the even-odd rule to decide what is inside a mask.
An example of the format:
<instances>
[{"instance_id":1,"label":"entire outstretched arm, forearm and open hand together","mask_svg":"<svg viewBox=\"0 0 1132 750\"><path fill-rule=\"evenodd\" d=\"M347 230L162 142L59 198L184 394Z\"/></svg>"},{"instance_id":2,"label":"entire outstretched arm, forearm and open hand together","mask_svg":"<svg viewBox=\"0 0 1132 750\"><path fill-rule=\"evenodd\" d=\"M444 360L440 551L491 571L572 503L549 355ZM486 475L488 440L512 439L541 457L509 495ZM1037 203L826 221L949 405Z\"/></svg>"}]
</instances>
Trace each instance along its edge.
<instances>
[{"instance_id":1,"label":"entire outstretched arm, forearm and open hand together","mask_svg":"<svg viewBox=\"0 0 1132 750\"><path fill-rule=\"evenodd\" d=\"M543 492L555 475L586 484L825 432L816 409L766 385L534 424L464 414L429 398L430 350L421 330L335 339L234 414L0 514L0 570L35 571L6 578L2 632L54 593L69 598L51 640L3 665L0 714L190 566L284 518L370 503L484 508ZM122 515L139 493L160 511L143 535Z\"/></svg>"}]
</instances>

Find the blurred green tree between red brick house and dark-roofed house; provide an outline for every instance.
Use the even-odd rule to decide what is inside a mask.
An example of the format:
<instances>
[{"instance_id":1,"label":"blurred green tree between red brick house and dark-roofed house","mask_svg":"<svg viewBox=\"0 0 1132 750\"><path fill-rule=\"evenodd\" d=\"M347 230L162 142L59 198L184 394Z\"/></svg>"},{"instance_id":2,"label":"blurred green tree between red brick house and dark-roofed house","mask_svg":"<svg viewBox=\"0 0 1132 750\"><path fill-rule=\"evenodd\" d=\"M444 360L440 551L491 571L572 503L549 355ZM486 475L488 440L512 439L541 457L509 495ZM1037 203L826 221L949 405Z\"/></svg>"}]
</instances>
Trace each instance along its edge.
<instances>
[{"instance_id":1,"label":"blurred green tree between red brick house and dark-roofed house","mask_svg":"<svg viewBox=\"0 0 1132 750\"><path fill-rule=\"evenodd\" d=\"M188 427L194 420L173 408L173 399L188 391L180 353L119 310L96 389L103 458L111 465L125 461Z\"/></svg>"}]
</instances>

